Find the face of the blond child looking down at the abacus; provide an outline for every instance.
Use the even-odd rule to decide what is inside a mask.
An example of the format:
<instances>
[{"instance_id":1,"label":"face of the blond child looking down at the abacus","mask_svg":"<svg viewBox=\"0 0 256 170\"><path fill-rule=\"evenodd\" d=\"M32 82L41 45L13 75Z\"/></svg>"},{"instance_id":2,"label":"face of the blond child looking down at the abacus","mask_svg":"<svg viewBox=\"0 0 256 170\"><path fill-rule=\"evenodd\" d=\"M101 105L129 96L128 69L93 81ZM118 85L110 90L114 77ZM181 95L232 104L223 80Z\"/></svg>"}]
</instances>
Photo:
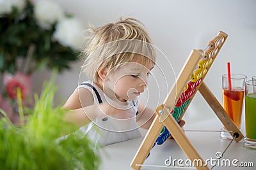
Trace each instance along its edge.
<instances>
[{"instance_id":1,"label":"face of the blond child looking down at the abacus","mask_svg":"<svg viewBox=\"0 0 256 170\"><path fill-rule=\"evenodd\" d=\"M133 101L144 92L154 63L126 62L108 74L108 87L118 101Z\"/></svg>"}]
</instances>

